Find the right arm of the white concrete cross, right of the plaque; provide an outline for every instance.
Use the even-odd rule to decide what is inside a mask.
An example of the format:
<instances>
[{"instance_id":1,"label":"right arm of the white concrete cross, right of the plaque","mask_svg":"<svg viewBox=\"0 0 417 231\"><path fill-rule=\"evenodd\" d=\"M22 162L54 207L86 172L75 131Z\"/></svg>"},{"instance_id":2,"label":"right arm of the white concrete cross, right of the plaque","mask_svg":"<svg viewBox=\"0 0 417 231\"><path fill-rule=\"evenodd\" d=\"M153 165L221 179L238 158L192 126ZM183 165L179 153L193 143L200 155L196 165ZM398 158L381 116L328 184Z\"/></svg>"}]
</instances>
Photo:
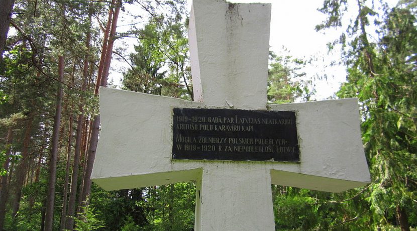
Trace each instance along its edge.
<instances>
[{"instance_id":1,"label":"right arm of the white concrete cross, right of the plaque","mask_svg":"<svg viewBox=\"0 0 417 231\"><path fill-rule=\"evenodd\" d=\"M369 184L356 98L270 105L296 111L298 172L271 170L273 184L340 192Z\"/></svg>"}]
</instances>

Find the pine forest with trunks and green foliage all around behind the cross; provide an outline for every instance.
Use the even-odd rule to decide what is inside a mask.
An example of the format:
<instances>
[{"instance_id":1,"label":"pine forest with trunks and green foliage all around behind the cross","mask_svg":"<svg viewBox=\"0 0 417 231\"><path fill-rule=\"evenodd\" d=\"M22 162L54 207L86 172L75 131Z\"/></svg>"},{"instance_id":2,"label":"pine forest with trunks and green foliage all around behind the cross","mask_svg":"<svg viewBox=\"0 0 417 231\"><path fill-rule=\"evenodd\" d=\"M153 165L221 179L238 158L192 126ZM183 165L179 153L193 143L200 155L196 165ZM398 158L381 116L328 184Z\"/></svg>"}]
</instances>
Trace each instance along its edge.
<instances>
[{"instance_id":1,"label":"pine forest with trunks and green foliage all around behind the cross","mask_svg":"<svg viewBox=\"0 0 417 231\"><path fill-rule=\"evenodd\" d=\"M100 86L193 100L186 4L2 0L0 230L194 229L194 182L104 191L90 179ZM372 182L342 193L272 185L276 230L417 230L417 1L312 10L326 18L317 33L341 31L323 41L346 70L332 98L359 99ZM302 69L314 60L271 51L268 102L314 100L325 76Z\"/></svg>"}]
</instances>

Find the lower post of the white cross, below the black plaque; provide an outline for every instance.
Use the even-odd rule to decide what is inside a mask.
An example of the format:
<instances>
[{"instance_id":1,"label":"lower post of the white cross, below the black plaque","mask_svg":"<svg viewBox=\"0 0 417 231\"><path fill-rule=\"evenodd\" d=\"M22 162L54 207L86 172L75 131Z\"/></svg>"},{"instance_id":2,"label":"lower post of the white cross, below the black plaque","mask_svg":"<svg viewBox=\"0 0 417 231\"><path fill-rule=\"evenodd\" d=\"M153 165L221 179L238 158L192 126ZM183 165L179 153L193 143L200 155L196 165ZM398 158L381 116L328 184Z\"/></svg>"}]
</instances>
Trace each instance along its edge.
<instances>
[{"instance_id":1,"label":"lower post of the white cross, below the black plaque","mask_svg":"<svg viewBox=\"0 0 417 231\"><path fill-rule=\"evenodd\" d=\"M233 163L203 168L195 229L275 230L269 171Z\"/></svg>"}]
</instances>

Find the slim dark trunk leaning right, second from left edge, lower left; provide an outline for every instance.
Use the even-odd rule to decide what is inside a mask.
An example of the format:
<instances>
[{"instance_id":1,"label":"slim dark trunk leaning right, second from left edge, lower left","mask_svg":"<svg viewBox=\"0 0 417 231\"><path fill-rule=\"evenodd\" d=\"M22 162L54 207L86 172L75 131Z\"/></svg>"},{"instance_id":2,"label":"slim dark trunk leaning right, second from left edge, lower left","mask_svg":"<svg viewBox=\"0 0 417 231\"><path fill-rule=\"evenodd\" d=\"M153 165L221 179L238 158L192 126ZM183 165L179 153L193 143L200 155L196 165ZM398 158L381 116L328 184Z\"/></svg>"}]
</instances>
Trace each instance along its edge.
<instances>
[{"instance_id":1,"label":"slim dark trunk leaning right, second from left edge, lower left","mask_svg":"<svg viewBox=\"0 0 417 231\"><path fill-rule=\"evenodd\" d=\"M32 135L32 123L33 123L33 114L29 115L28 121L26 123L26 132L25 138L23 139L23 150L22 150L22 159L19 165L16 167L15 171L15 187L13 192L13 201L12 201L12 217L15 218L19 211L20 206L20 197L22 196L22 187L23 182L25 181L26 174L26 162L29 155L29 144Z\"/></svg>"}]
</instances>

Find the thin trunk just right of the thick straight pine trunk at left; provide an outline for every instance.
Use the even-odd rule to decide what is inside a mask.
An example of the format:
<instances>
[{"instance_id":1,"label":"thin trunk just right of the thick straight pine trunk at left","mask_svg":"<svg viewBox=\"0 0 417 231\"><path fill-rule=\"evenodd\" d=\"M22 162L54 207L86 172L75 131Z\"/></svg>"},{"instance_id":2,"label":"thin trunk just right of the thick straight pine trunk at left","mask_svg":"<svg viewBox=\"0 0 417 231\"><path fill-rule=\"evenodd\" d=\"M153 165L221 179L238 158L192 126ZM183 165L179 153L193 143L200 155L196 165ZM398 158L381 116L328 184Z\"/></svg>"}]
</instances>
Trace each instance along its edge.
<instances>
[{"instance_id":1,"label":"thin trunk just right of the thick straight pine trunk at left","mask_svg":"<svg viewBox=\"0 0 417 231\"><path fill-rule=\"evenodd\" d=\"M68 183L69 183L69 167L71 163L71 143L72 143L72 110L69 113L69 129L68 129L68 147L67 147L67 163L65 167L65 183L64 198L62 202L62 213L60 221L60 230L65 229L65 221L67 217L67 200L68 200Z\"/></svg>"}]
</instances>

